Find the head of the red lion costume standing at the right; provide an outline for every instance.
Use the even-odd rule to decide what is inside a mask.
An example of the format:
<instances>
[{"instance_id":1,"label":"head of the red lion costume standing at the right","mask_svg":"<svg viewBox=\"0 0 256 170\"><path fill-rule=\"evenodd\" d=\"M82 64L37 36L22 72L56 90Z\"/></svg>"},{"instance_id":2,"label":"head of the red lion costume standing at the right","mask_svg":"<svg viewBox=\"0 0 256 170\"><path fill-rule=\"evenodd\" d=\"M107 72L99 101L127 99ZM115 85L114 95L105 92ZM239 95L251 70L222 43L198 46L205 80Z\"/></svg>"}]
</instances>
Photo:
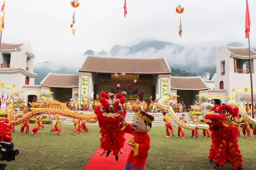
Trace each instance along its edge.
<instances>
[{"instance_id":1,"label":"head of the red lion costume standing at the right","mask_svg":"<svg viewBox=\"0 0 256 170\"><path fill-rule=\"evenodd\" d=\"M218 110L216 112L212 112L213 114L206 114L205 119L210 120L209 122L206 122L209 125L214 126L222 126L222 122L234 122L234 118L238 116L238 107L232 107L227 104L221 105L218 107L212 108L214 111Z\"/></svg>"}]
</instances>

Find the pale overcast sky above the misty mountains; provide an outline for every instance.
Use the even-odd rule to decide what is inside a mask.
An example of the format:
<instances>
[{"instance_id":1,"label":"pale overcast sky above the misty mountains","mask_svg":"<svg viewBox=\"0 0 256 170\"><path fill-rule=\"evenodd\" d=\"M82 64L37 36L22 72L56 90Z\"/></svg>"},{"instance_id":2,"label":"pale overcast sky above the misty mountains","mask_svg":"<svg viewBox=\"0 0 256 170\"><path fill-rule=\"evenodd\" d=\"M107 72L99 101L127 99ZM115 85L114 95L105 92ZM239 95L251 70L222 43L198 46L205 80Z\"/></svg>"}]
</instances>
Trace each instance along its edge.
<instances>
[{"instance_id":1,"label":"pale overcast sky above the misty mountains","mask_svg":"<svg viewBox=\"0 0 256 170\"><path fill-rule=\"evenodd\" d=\"M73 8L70 0L6 0L2 42L29 41L35 63L76 58L88 49L110 51L115 44L133 46L148 39L184 46L219 46L234 41L248 45L246 0L127 0L126 18L124 0L79 2L79 7ZM256 5L254 0L248 3L250 42L255 48ZM183 14L175 11L178 4L184 5ZM70 28L74 11L76 36Z\"/></svg>"}]
</instances>

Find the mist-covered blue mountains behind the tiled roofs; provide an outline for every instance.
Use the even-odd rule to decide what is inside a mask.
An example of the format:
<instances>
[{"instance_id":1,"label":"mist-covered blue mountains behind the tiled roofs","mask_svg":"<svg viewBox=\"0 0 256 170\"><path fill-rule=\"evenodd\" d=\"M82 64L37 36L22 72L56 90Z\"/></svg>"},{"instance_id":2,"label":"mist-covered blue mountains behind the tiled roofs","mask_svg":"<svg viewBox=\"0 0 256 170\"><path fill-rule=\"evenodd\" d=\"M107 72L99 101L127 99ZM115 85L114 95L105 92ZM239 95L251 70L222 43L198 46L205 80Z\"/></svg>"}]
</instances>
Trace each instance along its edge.
<instances>
[{"instance_id":1,"label":"mist-covered blue mountains behind the tiled roofs","mask_svg":"<svg viewBox=\"0 0 256 170\"><path fill-rule=\"evenodd\" d=\"M227 46L245 46L240 42L231 42ZM188 72L186 75L203 75L207 72L211 73L211 76L216 72L215 59L220 51L221 45L213 47L185 47L177 44L156 41L145 40L139 44L131 47L114 45L110 51L94 52L89 49L84 53L84 56L77 58L73 63L73 68L70 69L70 63L63 64L59 67L54 65L54 62L41 62L35 65L34 72L38 74L35 79L35 84L40 84L42 79L49 73L63 73L63 74L77 74L78 67L84 61L85 55L95 56L112 56L112 57L138 57L138 58L150 58L150 57L165 57L170 67L174 69L180 69ZM256 48L253 49L256 51ZM55 62L56 63L56 62ZM58 62L59 63L59 62ZM177 70L179 72L179 70ZM179 74L177 74L179 75Z\"/></svg>"}]
</instances>

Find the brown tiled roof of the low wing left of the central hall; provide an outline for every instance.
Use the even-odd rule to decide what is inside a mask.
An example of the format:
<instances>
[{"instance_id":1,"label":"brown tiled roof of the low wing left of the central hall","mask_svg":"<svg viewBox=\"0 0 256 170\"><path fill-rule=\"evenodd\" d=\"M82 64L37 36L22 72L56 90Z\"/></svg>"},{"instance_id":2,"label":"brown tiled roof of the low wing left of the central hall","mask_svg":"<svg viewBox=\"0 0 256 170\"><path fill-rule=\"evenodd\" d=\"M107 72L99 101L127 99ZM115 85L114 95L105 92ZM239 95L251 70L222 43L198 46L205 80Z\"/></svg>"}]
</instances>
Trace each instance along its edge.
<instances>
[{"instance_id":1,"label":"brown tiled roof of the low wing left of the central hall","mask_svg":"<svg viewBox=\"0 0 256 170\"><path fill-rule=\"evenodd\" d=\"M55 74L49 73L44 80L41 81L41 86L46 87L78 87L78 74Z\"/></svg>"}]
</instances>

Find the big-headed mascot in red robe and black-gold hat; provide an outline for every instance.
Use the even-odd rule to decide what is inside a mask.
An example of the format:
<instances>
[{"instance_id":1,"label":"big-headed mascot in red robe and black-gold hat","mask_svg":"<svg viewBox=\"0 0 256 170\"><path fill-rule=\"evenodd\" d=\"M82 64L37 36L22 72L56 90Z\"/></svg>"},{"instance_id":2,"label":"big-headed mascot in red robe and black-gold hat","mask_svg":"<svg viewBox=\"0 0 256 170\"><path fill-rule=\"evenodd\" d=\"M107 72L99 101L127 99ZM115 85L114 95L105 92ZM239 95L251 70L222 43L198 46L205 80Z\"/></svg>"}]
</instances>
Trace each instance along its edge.
<instances>
[{"instance_id":1,"label":"big-headed mascot in red robe and black-gold hat","mask_svg":"<svg viewBox=\"0 0 256 170\"><path fill-rule=\"evenodd\" d=\"M121 130L132 134L134 137L133 144L129 144L131 152L124 165L124 169L143 169L147 160L147 152L150 149L150 137L147 132L151 129L154 117L139 110L134 114L132 124L126 122L123 116L120 116L120 120L124 124Z\"/></svg>"}]
</instances>

